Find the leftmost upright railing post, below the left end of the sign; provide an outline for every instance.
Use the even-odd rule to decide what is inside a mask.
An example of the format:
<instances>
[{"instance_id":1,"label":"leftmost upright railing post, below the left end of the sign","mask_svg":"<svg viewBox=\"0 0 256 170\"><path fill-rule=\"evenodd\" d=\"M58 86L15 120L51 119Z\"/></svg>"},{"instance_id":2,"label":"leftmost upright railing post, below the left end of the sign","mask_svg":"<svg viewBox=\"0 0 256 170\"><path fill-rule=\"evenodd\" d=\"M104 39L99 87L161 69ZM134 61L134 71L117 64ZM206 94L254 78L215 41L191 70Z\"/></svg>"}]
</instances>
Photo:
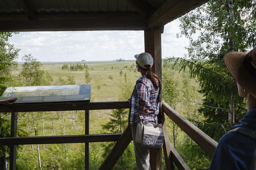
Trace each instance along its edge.
<instances>
[{"instance_id":1,"label":"leftmost upright railing post, below the left end of the sign","mask_svg":"<svg viewBox=\"0 0 256 170\"><path fill-rule=\"evenodd\" d=\"M12 112L10 137L17 137L17 115L17 112ZM16 147L17 145L10 146L10 170L16 170Z\"/></svg>"}]
</instances>

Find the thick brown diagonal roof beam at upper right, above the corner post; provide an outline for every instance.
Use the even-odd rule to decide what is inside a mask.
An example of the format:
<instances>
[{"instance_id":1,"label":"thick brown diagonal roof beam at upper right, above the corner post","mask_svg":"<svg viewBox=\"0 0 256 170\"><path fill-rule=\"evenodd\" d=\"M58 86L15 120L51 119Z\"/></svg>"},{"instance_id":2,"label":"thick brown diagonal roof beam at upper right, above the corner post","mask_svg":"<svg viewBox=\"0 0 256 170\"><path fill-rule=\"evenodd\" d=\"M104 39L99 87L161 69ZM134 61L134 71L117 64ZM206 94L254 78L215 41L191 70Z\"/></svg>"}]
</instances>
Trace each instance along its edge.
<instances>
[{"instance_id":1,"label":"thick brown diagonal roof beam at upper right, above the corner post","mask_svg":"<svg viewBox=\"0 0 256 170\"><path fill-rule=\"evenodd\" d=\"M167 0L153 15L148 19L149 28L159 28L188 13L209 0Z\"/></svg>"}]
</instances>

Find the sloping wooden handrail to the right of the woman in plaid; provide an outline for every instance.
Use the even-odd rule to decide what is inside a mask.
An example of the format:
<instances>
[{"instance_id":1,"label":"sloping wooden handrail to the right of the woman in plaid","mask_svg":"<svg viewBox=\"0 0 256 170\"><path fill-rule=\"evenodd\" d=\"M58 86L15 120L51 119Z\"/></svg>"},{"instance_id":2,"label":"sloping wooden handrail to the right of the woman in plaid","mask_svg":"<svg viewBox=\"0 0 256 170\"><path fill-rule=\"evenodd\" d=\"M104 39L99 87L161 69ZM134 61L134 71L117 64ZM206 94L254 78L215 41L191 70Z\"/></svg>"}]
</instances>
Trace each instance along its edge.
<instances>
[{"instance_id":1,"label":"sloping wooden handrail to the right of the woman in plaid","mask_svg":"<svg viewBox=\"0 0 256 170\"><path fill-rule=\"evenodd\" d=\"M203 131L197 128L194 124L180 115L167 103L162 101L164 113L169 116L173 122L180 127L193 141L196 142L210 157L213 156L218 143L206 135Z\"/></svg>"}]
</instances>

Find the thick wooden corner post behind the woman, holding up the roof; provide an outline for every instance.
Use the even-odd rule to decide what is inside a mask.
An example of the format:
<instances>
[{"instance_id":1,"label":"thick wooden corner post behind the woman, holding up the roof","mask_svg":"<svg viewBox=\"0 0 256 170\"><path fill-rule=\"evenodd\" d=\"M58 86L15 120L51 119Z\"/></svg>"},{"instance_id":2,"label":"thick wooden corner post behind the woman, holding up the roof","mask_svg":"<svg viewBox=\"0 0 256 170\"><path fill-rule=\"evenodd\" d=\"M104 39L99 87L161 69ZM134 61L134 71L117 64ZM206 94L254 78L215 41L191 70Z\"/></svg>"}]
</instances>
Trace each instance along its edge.
<instances>
[{"instance_id":1,"label":"thick wooden corner post behind the woman, holding up the roof","mask_svg":"<svg viewBox=\"0 0 256 170\"><path fill-rule=\"evenodd\" d=\"M144 30L145 53L151 54L154 60L152 71L162 80L162 28L148 28ZM150 166L152 170L162 169L162 148L150 148Z\"/></svg>"}]
</instances>

